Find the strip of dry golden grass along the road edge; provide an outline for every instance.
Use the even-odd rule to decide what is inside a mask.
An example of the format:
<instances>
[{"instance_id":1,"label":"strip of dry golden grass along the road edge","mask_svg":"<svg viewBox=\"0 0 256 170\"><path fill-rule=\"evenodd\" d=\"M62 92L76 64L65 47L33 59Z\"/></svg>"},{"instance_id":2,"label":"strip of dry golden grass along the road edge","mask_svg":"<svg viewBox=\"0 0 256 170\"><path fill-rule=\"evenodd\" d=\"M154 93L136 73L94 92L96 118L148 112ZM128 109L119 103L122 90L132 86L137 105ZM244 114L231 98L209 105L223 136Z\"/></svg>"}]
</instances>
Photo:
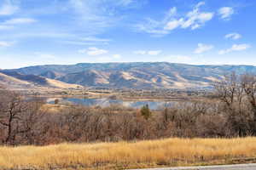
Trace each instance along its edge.
<instances>
[{"instance_id":1,"label":"strip of dry golden grass along the road edge","mask_svg":"<svg viewBox=\"0 0 256 170\"><path fill-rule=\"evenodd\" d=\"M2 169L125 169L230 163L256 156L256 138L0 147Z\"/></svg>"}]
</instances>

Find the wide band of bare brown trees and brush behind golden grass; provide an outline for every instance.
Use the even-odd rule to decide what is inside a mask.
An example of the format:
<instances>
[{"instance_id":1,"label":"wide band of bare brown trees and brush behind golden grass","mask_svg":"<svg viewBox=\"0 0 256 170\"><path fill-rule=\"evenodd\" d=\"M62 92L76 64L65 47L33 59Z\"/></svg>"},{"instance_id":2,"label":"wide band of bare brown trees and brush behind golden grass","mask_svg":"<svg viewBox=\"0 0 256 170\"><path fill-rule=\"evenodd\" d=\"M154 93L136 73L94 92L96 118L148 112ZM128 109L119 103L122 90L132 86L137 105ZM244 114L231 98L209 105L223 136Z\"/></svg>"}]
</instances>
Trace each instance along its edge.
<instances>
[{"instance_id":1,"label":"wide band of bare brown trees and brush behind golden grass","mask_svg":"<svg viewBox=\"0 0 256 170\"><path fill-rule=\"evenodd\" d=\"M0 96L1 144L60 144L162 138L234 138L256 135L256 78L226 77L212 102L179 103L162 111L81 105L55 108L12 92Z\"/></svg>"}]
</instances>

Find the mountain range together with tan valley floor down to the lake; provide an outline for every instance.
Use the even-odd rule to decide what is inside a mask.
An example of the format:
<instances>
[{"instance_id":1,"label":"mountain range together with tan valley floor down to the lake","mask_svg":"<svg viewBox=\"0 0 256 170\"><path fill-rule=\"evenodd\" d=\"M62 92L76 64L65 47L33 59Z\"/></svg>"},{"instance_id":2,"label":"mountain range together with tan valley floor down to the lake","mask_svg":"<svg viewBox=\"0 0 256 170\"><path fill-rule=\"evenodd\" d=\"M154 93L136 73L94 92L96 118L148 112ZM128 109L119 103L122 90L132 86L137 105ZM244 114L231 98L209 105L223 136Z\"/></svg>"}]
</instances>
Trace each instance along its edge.
<instances>
[{"instance_id":1,"label":"mountain range together with tan valley floor down to the lake","mask_svg":"<svg viewBox=\"0 0 256 170\"><path fill-rule=\"evenodd\" d=\"M199 100L230 72L256 71L250 65L107 63L38 65L0 70L0 84L28 96L130 101Z\"/></svg>"}]
</instances>

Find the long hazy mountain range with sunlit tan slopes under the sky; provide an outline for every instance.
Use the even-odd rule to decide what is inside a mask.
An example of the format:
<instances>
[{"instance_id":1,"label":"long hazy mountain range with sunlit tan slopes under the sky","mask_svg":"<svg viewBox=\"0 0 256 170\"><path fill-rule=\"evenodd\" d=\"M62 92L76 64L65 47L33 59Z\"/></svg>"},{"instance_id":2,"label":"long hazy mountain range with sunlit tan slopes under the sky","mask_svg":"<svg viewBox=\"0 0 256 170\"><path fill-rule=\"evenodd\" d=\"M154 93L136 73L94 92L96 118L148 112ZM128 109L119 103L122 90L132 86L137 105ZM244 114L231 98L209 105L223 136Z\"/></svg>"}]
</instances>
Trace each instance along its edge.
<instances>
[{"instance_id":1,"label":"long hazy mountain range with sunlit tan slopes under the sky","mask_svg":"<svg viewBox=\"0 0 256 170\"><path fill-rule=\"evenodd\" d=\"M54 88L210 88L233 71L256 73L256 67L167 62L37 65L0 70L0 83Z\"/></svg>"}]
</instances>

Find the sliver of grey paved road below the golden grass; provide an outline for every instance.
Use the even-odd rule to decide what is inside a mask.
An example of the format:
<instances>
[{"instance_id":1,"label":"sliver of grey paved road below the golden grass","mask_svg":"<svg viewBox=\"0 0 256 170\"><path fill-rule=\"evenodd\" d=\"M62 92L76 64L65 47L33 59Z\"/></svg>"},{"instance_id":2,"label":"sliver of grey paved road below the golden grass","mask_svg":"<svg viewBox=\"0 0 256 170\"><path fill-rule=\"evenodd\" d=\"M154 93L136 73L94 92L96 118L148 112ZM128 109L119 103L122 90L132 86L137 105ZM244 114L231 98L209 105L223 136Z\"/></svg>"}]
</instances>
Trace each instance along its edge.
<instances>
[{"instance_id":1,"label":"sliver of grey paved road below the golden grass","mask_svg":"<svg viewBox=\"0 0 256 170\"><path fill-rule=\"evenodd\" d=\"M138 170L138 169L134 169ZM141 169L142 170L142 169ZM256 163L224 166L206 166L206 167L164 167L148 168L143 170L256 170Z\"/></svg>"}]
</instances>

